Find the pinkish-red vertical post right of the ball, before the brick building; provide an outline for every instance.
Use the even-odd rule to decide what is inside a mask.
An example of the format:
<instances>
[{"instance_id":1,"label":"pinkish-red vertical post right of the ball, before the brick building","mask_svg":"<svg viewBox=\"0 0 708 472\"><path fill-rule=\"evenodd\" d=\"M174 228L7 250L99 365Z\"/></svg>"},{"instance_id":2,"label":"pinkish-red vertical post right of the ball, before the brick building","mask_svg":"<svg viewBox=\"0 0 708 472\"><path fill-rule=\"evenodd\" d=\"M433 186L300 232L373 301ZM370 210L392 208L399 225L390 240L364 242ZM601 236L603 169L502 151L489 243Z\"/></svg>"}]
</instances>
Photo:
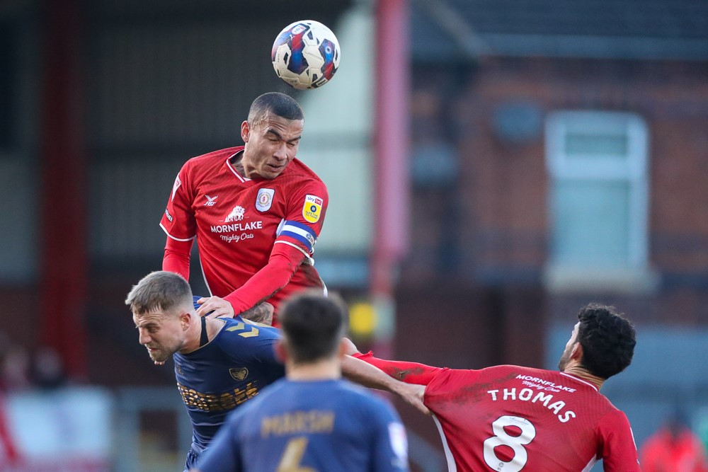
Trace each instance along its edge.
<instances>
[{"instance_id":1,"label":"pinkish-red vertical post right of the ball, before the brick building","mask_svg":"<svg viewBox=\"0 0 708 472\"><path fill-rule=\"evenodd\" d=\"M375 232L370 292L376 348L391 354L394 277L409 247L409 17L406 0L376 6Z\"/></svg>"}]
</instances>

